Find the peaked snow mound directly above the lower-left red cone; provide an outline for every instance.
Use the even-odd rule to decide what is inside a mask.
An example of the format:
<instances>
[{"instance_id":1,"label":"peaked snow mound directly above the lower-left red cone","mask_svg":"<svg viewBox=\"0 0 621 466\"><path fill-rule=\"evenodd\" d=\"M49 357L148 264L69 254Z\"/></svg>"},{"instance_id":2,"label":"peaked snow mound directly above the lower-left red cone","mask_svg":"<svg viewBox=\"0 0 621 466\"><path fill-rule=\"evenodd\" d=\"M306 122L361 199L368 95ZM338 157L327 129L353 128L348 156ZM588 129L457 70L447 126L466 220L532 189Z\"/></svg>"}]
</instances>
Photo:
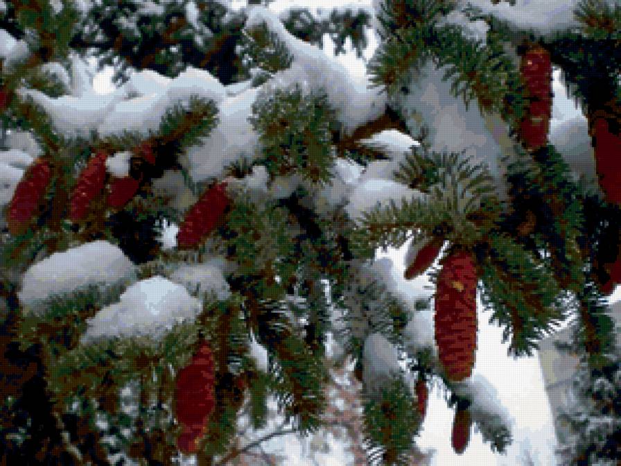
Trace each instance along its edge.
<instances>
[{"instance_id":1,"label":"peaked snow mound directly above the lower-left red cone","mask_svg":"<svg viewBox=\"0 0 621 466\"><path fill-rule=\"evenodd\" d=\"M186 289L156 275L140 280L121 295L120 302L101 309L87 320L82 343L115 336L159 338L173 325L190 320L200 312L200 301Z\"/></svg>"}]
</instances>

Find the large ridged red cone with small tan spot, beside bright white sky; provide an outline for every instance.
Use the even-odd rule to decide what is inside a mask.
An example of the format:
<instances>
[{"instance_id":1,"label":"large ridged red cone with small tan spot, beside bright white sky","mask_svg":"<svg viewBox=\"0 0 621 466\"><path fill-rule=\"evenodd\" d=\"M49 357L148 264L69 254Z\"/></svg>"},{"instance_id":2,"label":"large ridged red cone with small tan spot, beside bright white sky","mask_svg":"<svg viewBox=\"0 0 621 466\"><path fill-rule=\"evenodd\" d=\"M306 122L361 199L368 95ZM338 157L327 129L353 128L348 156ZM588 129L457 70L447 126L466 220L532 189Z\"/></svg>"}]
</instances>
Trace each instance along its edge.
<instances>
[{"instance_id":1,"label":"large ridged red cone with small tan spot, beside bright white sky","mask_svg":"<svg viewBox=\"0 0 621 466\"><path fill-rule=\"evenodd\" d=\"M471 254L442 259L435 293L435 340L448 379L470 377L477 347L477 275Z\"/></svg>"}]
</instances>

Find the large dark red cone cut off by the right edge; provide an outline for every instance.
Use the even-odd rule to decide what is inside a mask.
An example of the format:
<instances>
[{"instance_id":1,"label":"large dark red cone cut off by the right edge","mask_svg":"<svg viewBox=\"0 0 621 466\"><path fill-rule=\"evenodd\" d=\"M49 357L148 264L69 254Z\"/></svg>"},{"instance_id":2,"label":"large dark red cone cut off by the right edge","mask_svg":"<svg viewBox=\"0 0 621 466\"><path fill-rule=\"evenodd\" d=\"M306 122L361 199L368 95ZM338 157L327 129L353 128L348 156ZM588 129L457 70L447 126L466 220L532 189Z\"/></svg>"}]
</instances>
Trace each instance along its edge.
<instances>
[{"instance_id":1,"label":"large dark red cone cut off by the right edge","mask_svg":"<svg viewBox=\"0 0 621 466\"><path fill-rule=\"evenodd\" d=\"M621 205L621 131L611 131L603 117L593 123L595 166L608 202Z\"/></svg>"}]
</instances>

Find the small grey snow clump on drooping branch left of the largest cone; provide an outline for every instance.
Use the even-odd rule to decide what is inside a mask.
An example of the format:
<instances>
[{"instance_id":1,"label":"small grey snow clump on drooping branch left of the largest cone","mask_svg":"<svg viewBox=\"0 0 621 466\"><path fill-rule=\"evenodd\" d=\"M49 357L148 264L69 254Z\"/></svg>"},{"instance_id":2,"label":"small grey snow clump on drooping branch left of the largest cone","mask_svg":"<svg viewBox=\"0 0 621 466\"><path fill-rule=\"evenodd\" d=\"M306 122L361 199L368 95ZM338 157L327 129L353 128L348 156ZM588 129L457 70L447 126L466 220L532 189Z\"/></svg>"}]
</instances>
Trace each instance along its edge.
<instances>
[{"instance_id":1,"label":"small grey snow clump on drooping branch left of the largest cone","mask_svg":"<svg viewBox=\"0 0 621 466\"><path fill-rule=\"evenodd\" d=\"M399 377L399 358L395 347L381 334L371 334L362 350L365 387L372 394L378 393L392 377Z\"/></svg>"}]
</instances>

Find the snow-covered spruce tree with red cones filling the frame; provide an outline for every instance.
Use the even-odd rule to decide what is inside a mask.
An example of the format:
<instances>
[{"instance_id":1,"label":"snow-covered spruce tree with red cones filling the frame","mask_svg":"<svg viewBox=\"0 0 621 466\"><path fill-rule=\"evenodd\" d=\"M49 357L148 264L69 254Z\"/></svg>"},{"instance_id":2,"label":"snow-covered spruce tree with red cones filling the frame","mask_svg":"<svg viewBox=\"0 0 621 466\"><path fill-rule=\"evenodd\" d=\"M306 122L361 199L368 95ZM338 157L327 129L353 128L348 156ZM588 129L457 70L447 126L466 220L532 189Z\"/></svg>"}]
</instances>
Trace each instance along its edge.
<instances>
[{"instance_id":1,"label":"snow-covered spruce tree with red cones filling the frame","mask_svg":"<svg viewBox=\"0 0 621 466\"><path fill-rule=\"evenodd\" d=\"M3 463L239 463L271 408L329 422L335 354L369 463L418 458L419 381L455 451L472 424L504 451L477 293L516 356L577 319L584 409L611 421L575 454L618 458L618 1L240 3L0 1ZM357 80L318 45L360 53L365 26ZM582 144L550 134L552 65ZM376 257L408 241L430 302Z\"/></svg>"}]
</instances>

